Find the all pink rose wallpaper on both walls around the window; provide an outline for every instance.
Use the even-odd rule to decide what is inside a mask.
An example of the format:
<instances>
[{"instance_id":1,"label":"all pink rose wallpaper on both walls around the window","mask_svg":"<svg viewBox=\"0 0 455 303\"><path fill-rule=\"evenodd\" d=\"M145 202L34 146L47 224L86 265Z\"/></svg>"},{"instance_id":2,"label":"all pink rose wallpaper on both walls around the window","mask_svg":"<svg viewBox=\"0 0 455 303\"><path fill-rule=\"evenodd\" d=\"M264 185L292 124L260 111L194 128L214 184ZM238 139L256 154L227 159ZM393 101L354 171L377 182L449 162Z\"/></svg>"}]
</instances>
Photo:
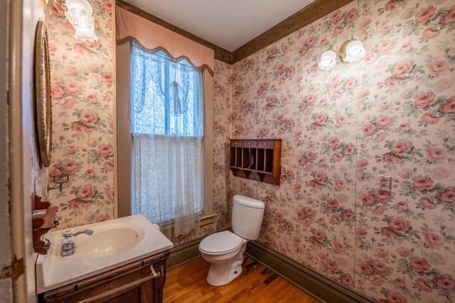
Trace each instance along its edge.
<instances>
[{"instance_id":1,"label":"all pink rose wallpaper on both walls around the window","mask_svg":"<svg viewBox=\"0 0 455 303\"><path fill-rule=\"evenodd\" d=\"M73 38L53 9L51 201L61 227L112 219L110 1L91 0L96 43ZM215 223L233 194L262 199L259 241L378 302L453 302L455 277L455 6L354 1L230 66L215 60ZM354 33L360 62L316 65ZM282 138L282 184L230 175L230 138ZM230 177L226 177L230 175ZM392 193L378 192L390 175ZM452 262L453 263L453 262Z\"/></svg>"}]
</instances>

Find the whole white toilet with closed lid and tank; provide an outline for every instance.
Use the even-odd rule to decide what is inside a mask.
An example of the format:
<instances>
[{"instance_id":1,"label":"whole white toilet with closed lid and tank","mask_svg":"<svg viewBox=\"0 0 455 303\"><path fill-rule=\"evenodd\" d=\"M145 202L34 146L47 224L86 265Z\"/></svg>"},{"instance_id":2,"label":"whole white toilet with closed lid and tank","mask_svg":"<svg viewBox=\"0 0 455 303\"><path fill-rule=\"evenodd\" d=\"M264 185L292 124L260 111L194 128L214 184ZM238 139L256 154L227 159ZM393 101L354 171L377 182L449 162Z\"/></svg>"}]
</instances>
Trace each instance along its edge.
<instances>
[{"instance_id":1,"label":"whole white toilet with closed lid and tank","mask_svg":"<svg viewBox=\"0 0 455 303\"><path fill-rule=\"evenodd\" d=\"M264 202L236 194L232 199L232 230L220 231L204 238L200 254L211 263L207 282L226 285L242 273L243 253L247 241L256 240L264 216Z\"/></svg>"}]
</instances>

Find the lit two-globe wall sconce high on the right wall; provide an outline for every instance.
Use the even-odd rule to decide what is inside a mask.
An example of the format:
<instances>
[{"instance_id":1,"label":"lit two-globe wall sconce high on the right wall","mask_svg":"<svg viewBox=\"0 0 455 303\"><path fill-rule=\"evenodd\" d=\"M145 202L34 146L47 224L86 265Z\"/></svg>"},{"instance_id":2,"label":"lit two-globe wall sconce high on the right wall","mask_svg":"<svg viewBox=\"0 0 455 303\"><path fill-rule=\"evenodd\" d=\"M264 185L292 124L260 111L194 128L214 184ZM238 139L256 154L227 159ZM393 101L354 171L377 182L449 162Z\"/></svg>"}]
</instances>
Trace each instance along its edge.
<instances>
[{"instance_id":1,"label":"lit two-globe wall sconce high on the right wall","mask_svg":"<svg viewBox=\"0 0 455 303\"><path fill-rule=\"evenodd\" d=\"M337 59L341 62L355 62L365 57L366 50L363 48L363 43L352 36L347 40L341 48L336 45L330 45L321 55L321 61L318 66L321 70L331 70L335 67Z\"/></svg>"}]
</instances>

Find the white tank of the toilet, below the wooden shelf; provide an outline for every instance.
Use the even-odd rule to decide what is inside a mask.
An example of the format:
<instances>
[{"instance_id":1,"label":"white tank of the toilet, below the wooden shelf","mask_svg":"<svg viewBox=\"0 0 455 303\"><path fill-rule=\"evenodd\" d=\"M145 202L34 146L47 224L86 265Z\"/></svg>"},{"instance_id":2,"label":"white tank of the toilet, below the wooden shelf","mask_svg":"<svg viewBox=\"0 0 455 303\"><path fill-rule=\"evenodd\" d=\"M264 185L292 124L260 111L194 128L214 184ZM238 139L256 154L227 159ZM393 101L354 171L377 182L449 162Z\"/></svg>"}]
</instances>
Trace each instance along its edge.
<instances>
[{"instance_id":1,"label":"white tank of the toilet, below the wooden shelf","mask_svg":"<svg viewBox=\"0 0 455 303\"><path fill-rule=\"evenodd\" d=\"M232 199L232 230L247 240L256 240L261 230L265 204L236 194Z\"/></svg>"}]
</instances>

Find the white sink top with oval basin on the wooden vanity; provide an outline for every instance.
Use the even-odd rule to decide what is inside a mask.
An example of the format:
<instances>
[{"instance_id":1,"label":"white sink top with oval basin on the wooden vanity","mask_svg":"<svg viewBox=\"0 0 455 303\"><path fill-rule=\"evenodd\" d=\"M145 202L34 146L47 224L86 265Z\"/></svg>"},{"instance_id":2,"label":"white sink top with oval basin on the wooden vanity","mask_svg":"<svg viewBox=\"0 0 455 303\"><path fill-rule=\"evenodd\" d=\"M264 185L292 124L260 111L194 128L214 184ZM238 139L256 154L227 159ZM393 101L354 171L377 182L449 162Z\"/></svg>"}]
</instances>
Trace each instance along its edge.
<instances>
[{"instance_id":1,"label":"white sink top with oval basin on the wooden vanity","mask_svg":"<svg viewBox=\"0 0 455 303\"><path fill-rule=\"evenodd\" d=\"M88 236L75 237L75 253L61 256L62 233L50 231L44 237L50 241L47 255L36 259L36 292L41 294L68 285L106 270L156 255L173 247L159 228L141 214L77 226L74 233L92 229Z\"/></svg>"}]
</instances>

